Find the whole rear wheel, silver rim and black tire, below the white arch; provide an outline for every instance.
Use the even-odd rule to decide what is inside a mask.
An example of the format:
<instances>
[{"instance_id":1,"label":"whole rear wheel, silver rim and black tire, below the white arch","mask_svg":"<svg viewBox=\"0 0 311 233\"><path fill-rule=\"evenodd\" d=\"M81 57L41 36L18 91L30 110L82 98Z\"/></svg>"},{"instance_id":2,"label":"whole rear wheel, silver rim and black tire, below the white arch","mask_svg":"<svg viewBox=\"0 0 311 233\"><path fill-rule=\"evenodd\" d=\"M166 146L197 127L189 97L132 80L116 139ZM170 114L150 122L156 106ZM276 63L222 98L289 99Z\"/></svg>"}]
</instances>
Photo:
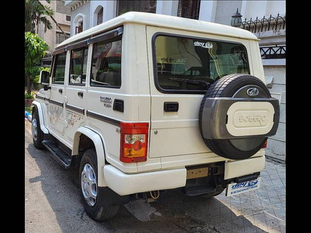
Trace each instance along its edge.
<instances>
[{"instance_id":1,"label":"whole rear wheel, silver rim and black tire, below the white arch","mask_svg":"<svg viewBox=\"0 0 311 233\"><path fill-rule=\"evenodd\" d=\"M88 149L83 153L79 174L83 206L88 216L96 221L103 221L115 216L119 205L112 205L109 203L109 200L105 202L99 201L104 199L104 192L98 187L97 155L95 149Z\"/></svg>"}]
</instances>

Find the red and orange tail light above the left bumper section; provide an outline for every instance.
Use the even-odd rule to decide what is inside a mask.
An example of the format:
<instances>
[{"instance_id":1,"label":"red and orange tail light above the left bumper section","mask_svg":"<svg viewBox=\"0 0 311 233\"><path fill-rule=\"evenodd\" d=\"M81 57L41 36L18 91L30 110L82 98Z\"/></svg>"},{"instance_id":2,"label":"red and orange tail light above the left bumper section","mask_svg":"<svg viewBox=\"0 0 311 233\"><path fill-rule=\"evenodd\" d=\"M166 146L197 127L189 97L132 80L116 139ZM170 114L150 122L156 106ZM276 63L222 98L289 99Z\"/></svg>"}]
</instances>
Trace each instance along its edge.
<instances>
[{"instance_id":1,"label":"red and orange tail light above the left bumper section","mask_svg":"<svg viewBox=\"0 0 311 233\"><path fill-rule=\"evenodd\" d=\"M121 122L120 161L147 161L149 123Z\"/></svg>"}]
</instances>

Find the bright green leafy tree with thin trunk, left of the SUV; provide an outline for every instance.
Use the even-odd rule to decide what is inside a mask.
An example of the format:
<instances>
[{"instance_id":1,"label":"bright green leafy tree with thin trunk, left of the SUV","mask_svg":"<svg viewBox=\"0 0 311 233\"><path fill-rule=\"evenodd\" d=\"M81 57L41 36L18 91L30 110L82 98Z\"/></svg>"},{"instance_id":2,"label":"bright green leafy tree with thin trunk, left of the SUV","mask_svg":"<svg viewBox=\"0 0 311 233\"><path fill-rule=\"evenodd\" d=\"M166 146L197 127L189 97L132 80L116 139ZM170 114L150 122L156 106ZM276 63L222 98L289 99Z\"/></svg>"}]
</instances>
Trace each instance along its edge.
<instances>
[{"instance_id":1,"label":"bright green leafy tree with thin trunk, left of the SUV","mask_svg":"<svg viewBox=\"0 0 311 233\"><path fill-rule=\"evenodd\" d=\"M35 64L45 55L49 46L37 34L25 32L25 76L27 80L27 93L31 94L31 75L37 69Z\"/></svg>"}]
</instances>

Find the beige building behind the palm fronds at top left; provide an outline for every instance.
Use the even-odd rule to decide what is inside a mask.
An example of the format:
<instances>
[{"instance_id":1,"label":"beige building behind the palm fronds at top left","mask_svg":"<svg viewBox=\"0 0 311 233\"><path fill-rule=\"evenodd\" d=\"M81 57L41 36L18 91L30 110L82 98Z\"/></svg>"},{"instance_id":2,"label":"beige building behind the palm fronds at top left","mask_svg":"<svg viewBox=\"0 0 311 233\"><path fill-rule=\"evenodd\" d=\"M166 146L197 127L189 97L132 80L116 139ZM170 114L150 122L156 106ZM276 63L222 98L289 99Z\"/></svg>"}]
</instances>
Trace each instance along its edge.
<instances>
[{"instance_id":1,"label":"beige building behind the palm fronds at top left","mask_svg":"<svg viewBox=\"0 0 311 233\"><path fill-rule=\"evenodd\" d=\"M65 6L65 1L51 1L47 3L45 0L40 0L43 5L49 5L53 11L53 18L56 20L61 29L66 33L66 36L61 32L61 30L56 26L56 23L52 20L51 17L48 17L52 23L52 30L47 30L44 32L44 25L41 23L38 27L35 27L35 33L37 33L48 45L49 52L46 57L41 59L41 66L49 67L52 62L52 52L55 47L62 43L64 40L70 37L70 15L71 9L68 6Z\"/></svg>"}]
</instances>

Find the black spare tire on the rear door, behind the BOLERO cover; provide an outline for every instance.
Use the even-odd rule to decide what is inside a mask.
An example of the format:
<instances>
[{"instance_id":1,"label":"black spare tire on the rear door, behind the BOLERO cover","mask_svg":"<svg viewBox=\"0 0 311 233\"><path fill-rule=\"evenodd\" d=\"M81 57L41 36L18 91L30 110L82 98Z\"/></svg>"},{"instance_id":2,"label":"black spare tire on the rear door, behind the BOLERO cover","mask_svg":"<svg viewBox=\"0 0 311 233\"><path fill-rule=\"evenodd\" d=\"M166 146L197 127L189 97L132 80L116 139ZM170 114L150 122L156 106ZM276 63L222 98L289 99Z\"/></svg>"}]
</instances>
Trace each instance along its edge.
<instances>
[{"instance_id":1,"label":"black spare tire on the rear door, behind the BOLERO cover","mask_svg":"<svg viewBox=\"0 0 311 233\"><path fill-rule=\"evenodd\" d=\"M250 90L251 89L251 90ZM252 90L256 89L256 93L247 93ZM250 91L249 91L250 90ZM255 95L254 95L255 94ZM258 136L249 136L249 137L231 137L230 139L211 139L206 138L204 136L203 130L205 125L203 125L202 122L207 122L204 116L204 106L206 100L216 100L218 99L224 99L219 97L229 97L231 100L232 98L246 98L244 100L250 101L249 98L271 98L271 95L266 87L266 85L260 81L258 78L248 75L248 74L231 74L226 75L223 78L217 80L215 83L213 83L208 89L207 92L201 102L200 105L200 112L199 112L199 128L200 133L203 137L203 140L207 147L213 151L215 154L222 156L227 159L233 159L233 160L241 160L249 158L250 156L254 155L256 152L258 152L263 144L267 140L267 134L258 135ZM207 99L208 98L208 99ZM214 99L211 99L214 98ZM238 100L238 99L237 99ZM242 99L239 99L242 100ZM261 99L262 100L262 99ZM274 119L274 132L276 132L277 124L278 124L278 118L279 118L279 105L277 102L277 107L275 107L276 114L273 116ZM278 108L278 110L277 110ZM219 111L219 110L218 110ZM226 111L226 110L225 110ZM226 114L226 113L225 113ZM228 116L226 115L228 118ZM203 119L205 118L205 121ZM227 121L227 119L226 119ZM227 122L225 122L226 124ZM276 128L275 128L276 127ZM210 128L208 128L210 129ZM224 131L223 129L219 132ZM274 133L275 134L275 133ZM271 135L271 134L270 134Z\"/></svg>"}]
</instances>

